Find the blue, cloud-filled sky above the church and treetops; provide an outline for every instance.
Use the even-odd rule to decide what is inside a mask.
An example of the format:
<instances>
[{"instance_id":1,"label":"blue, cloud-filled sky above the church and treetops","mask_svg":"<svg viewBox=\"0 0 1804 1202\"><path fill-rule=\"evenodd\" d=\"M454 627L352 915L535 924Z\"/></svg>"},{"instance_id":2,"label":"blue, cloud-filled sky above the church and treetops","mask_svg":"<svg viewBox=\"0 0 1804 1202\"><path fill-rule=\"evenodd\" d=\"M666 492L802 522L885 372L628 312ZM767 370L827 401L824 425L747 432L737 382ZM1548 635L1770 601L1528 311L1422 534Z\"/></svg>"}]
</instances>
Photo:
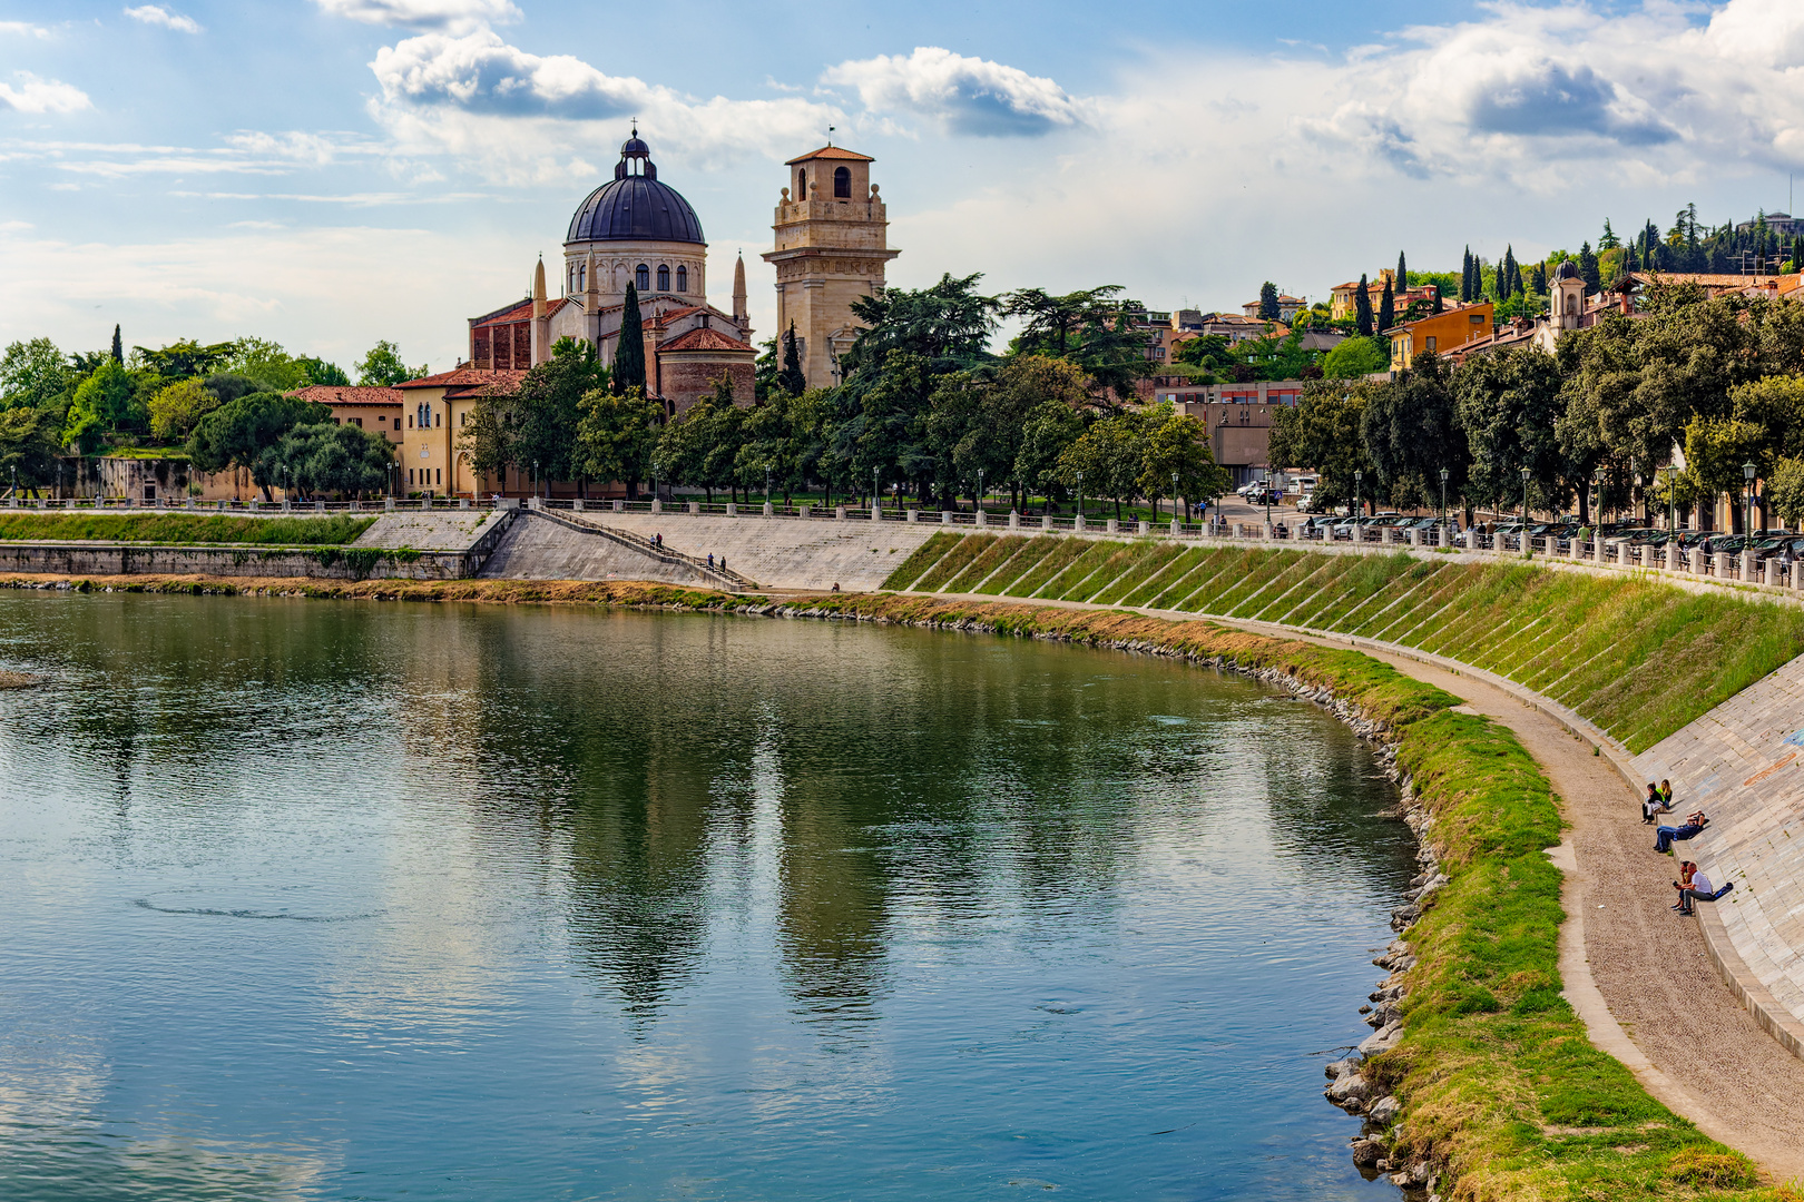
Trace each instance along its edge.
<instances>
[{"instance_id":1,"label":"blue, cloud-filled sky above the church and treetops","mask_svg":"<svg viewBox=\"0 0 1804 1202\"><path fill-rule=\"evenodd\" d=\"M830 126L877 159L891 285L1315 301L1400 250L1790 209L1804 4L0 0L0 344L449 368L633 119L758 339L783 162Z\"/></svg>"}]
</instances>

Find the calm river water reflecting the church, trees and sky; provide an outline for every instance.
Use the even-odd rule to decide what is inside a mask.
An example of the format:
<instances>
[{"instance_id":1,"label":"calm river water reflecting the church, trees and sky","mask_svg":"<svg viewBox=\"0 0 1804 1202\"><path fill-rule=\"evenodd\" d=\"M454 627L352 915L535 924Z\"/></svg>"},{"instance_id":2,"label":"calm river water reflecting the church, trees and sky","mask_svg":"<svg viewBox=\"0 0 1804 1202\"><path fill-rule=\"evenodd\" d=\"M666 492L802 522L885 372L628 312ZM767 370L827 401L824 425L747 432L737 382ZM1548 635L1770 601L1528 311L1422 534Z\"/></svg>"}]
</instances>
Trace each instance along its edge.
<instances>
[{"instance_id":1,"label":"calm river water reflecting the church, trees and sky","mask_svg":"<svg viewBox=\"0 0 1804 1202\"><path fill-rule=\"evenodd\" d=\"M1378 1198L1413 872L1210 670L705 616L11 595L0 1197Z\"/></svg>"}]
</instances>

